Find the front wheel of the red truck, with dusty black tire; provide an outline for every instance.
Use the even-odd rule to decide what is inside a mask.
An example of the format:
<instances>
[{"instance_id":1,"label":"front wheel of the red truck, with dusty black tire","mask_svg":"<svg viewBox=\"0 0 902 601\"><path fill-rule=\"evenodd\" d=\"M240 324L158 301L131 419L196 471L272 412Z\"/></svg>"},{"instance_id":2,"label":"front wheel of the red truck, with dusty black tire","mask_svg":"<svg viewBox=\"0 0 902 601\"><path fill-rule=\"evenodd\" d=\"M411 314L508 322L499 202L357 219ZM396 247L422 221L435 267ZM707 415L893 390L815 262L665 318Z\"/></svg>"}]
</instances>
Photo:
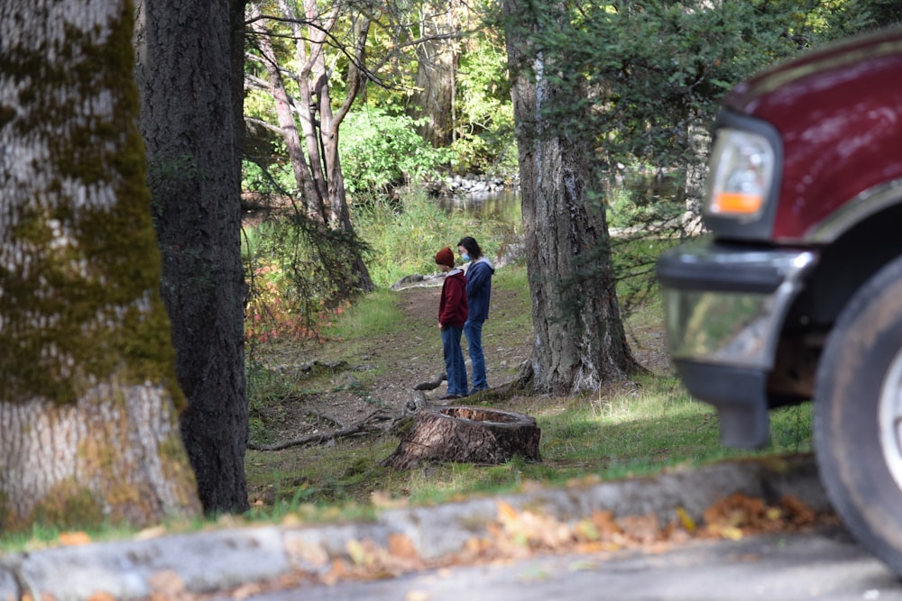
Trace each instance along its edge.
<instances>
[{"instance_id":1,"label":"front wheel of the red truck, with dusty black tire","mask_svg":"<svg viewBox=\"0 0 902 601\"><path fill-rule=\"evenodd\" d=\"M817 370L815 455L861 545L902 575L902 259L852 297Z\"/></svg>"}]
</instances>

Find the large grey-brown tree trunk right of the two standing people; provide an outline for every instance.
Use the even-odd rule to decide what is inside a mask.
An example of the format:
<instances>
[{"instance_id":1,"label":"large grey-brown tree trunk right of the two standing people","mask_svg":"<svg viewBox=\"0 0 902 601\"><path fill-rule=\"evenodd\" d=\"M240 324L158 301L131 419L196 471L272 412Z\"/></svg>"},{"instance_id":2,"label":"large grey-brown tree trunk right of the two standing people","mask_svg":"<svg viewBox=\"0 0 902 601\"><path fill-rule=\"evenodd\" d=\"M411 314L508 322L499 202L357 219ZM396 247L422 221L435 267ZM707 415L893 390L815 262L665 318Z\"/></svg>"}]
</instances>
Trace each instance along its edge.
<instances>
[{"instance_id":1,"label":"large grey-brown tree trunk right of the two standing people","mask_svg":"<svg viewBox=\"0 0 902 601\"><path fill-rule=\"evenodd\" d=\"M621 322L603 206L593 194L591 141L556 131L548 117L584 109L572 108L579 105L571 93L545 77L563 67L548 63L524 33L538 29L538 15L517 0L505 0L504 12L536 332L532 386L553 394L595 390L639 365Z\"/></svg>"}]
</instances>

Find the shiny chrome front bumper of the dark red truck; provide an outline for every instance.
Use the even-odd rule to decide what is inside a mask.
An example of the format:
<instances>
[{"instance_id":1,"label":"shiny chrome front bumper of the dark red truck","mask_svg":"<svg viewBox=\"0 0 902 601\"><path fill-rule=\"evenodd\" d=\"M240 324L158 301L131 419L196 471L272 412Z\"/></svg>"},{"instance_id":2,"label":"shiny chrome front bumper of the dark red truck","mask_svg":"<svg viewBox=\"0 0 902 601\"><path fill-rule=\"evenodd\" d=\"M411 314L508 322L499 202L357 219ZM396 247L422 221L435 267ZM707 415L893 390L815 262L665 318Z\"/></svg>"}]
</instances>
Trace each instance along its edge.
<instances>
[{"instance_id":1,"label":"shiny chrome front bumper of the dark red truck","mask_svg":"<svg viewBox=\"0 0 902 601\"><path fill-rule=\"evenodd\" d=\"M721 441L769 441L768 373L812 250L687 245L658 260L667 345L692 396L714 405Z\"/></svg>"}]
</instances>

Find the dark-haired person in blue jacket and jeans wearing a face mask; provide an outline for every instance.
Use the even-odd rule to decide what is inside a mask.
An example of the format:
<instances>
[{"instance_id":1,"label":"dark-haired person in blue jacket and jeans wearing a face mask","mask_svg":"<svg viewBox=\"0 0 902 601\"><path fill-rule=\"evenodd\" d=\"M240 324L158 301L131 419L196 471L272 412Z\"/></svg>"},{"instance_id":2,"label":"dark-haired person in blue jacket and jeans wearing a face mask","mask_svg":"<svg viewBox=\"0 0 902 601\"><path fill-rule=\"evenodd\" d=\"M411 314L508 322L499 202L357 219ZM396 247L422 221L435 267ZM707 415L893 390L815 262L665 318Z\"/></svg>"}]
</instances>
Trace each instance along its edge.
<instances>
[{"instance_id":1,"label":"dark-haired person in blue jacket and jeans wearing a face mask","mask_svg":"<svg viewBox=\"0 0 902 601\"><path fill-rule=\"evenodd\" d=\"M485 379L485 356L483 354L483 323L489 318L489 302L492 299L492 276L495 268L492 261L483 256L479 242L465 236L457 242L461 259L470 262L466 270L466 303L469 314L464 323L467 351L473 364L473 387L471 393L489 387Z\"/></svg>"}]
</instances>

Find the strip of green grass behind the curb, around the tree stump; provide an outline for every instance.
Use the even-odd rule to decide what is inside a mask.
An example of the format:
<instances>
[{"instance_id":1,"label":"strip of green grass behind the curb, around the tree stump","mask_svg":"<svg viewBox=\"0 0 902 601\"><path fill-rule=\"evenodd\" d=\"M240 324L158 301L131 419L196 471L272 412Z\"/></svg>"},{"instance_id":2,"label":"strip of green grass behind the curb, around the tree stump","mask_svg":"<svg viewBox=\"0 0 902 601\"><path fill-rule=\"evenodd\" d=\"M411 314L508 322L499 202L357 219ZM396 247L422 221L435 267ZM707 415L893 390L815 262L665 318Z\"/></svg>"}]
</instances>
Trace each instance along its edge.
<instances>
[{"instance_id":1,"label":"strip of green grass behind the curb, around the tree stump","mask_svg":"<svg viewBox=\"0 0 902 601\"><path fill-rule=\"evenodd\" d=\"M294 469L275 467L281 460L253 453L248 474L256 471L255 462L274 461L269 478L284 491L282 503L297 490L290 474L302 473L303 486L308 487L305 499L311 504L334 508L350 503L359 511L373 494L431 505L514 492L529 482L561 486L579 478L636 477L675 466L812 450L810 405L773 412L774 441L759 451L741 451L721 446L713 408L693 400L675 378L649 376L640 384L535 405L529 414L542 430L541 462L514 458L499 466L447 463L408 471L384 469L379 461L398 443L386 436L298 451L293 454Z\"/></svg>"}]
</instances>

